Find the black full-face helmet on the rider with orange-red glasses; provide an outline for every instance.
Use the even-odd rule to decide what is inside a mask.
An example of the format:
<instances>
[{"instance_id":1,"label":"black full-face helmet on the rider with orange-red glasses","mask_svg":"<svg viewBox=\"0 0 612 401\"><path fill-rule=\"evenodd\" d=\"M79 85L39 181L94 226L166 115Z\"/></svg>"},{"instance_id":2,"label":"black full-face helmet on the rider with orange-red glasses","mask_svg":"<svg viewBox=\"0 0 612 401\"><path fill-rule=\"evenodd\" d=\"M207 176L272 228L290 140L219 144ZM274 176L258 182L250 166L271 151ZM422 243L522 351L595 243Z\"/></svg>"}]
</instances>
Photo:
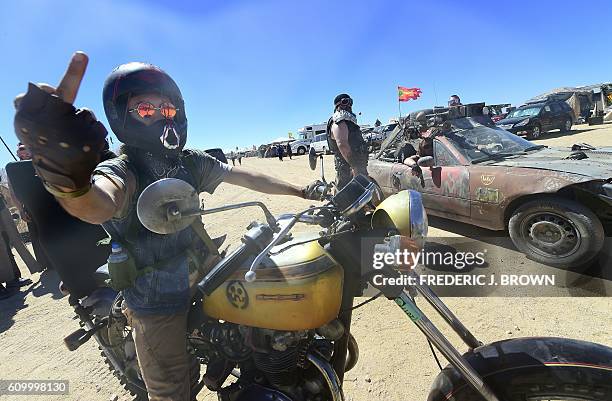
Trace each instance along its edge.
<instances>
[{"instance_id":1,"label":"black full-face helmet on the rider with orange-red glasses","mask_svg":"<svg viewBox=\"0 0 612 401\"><path fill-rule=\"evenodd\" d=\"M129 99L147 93L168 97L177 108L174 118L149 126L129 118ZM163 155L176 155L185 146L187 117L183 96L174 80L159 67L136 62L116 67L104 82L102 101L111 129L124 144Z\"/></svg>"}]
</instances>

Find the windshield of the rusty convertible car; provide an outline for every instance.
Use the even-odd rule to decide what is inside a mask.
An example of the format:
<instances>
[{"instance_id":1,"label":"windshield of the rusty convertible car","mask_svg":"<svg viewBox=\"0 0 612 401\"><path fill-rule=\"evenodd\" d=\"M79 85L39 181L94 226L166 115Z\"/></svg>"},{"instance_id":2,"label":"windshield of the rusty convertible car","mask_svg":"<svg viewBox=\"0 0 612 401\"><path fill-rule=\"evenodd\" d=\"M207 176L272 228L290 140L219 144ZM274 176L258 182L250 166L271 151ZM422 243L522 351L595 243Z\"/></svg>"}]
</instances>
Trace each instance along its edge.
<instances>
[{"instance_id":1,"label":"windshield of the rusty convertible car","mask_svg":"<svg viewBox=\"0 0 612 401\"><path fill-rule=\"evenodd\" d=\"M485 126L453 130L444 136L472 163L523 155L545 147L535 145L508 131Z\"/></svg>"}]
</instances>

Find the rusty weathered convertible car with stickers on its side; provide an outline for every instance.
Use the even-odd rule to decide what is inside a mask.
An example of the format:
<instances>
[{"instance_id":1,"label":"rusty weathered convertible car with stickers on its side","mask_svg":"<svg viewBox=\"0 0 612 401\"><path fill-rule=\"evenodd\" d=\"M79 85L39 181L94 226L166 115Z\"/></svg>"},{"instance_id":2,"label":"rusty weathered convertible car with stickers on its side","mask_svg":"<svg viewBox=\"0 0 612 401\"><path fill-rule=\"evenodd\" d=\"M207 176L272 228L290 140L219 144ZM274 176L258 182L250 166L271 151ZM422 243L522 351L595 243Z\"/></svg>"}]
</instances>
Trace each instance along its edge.
<instances>
[{"instance_id":1,"label":"rusty weathered convertible car with stickers on its side","mask_svg":"<svg viewBox=\"0 0 612 401\"><path fill-rule=\"evenodd\" d=\"M386 195L418 190L428 214L508 230L537 262L565 268L591 261L612 235L612 148L536 145L496 127L482 106L442 111L418 135L405 120L371 156L370 176ZM414 174L398 149L418 149L431 132L433 158L423 158L428 163Z\"/></svg>"}]
</instances>

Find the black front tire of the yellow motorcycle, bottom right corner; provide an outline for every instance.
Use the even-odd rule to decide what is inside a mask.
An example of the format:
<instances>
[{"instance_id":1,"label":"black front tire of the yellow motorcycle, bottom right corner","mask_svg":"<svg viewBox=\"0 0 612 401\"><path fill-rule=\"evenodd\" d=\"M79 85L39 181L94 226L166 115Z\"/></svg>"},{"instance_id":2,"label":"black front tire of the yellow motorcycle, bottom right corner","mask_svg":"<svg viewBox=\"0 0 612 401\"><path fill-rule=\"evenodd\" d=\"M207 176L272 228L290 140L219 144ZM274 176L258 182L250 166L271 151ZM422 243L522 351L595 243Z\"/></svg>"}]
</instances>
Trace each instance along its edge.
<instances>
[{"instance_id":1,"label":"black front tire of the yellow motorcycle, bottom right corner","mask_svg":"<svg viewBox=\"0 0 612 401\"><path fill-rule=\"evenodd\" d=\"M612 348L566 338L517 338L464 355L503 401L612 400ZM452 366L428 401L483 401Z\"/></svg>"}]
</instances>

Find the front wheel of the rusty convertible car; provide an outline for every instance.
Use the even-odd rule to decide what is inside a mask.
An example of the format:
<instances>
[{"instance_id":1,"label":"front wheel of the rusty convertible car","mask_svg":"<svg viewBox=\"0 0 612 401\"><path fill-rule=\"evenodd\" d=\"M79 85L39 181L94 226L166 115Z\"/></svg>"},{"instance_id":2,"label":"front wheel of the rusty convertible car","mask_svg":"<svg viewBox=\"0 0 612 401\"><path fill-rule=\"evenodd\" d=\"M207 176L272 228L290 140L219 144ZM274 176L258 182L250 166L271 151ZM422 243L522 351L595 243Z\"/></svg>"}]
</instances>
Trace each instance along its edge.
<instances>
[{"instance_id":1,"label":"front wheel of the rusty convertible car","mask_svg":"<svg viewBox=\"0 0 612 401\"><path fill-rule=\"evenodd\" d=\"M508 222L508 232L529 259L560 268L590 262L604 243L599 218L585 206L561 198L520 206Z\"/></svg>"}]
</instances>

